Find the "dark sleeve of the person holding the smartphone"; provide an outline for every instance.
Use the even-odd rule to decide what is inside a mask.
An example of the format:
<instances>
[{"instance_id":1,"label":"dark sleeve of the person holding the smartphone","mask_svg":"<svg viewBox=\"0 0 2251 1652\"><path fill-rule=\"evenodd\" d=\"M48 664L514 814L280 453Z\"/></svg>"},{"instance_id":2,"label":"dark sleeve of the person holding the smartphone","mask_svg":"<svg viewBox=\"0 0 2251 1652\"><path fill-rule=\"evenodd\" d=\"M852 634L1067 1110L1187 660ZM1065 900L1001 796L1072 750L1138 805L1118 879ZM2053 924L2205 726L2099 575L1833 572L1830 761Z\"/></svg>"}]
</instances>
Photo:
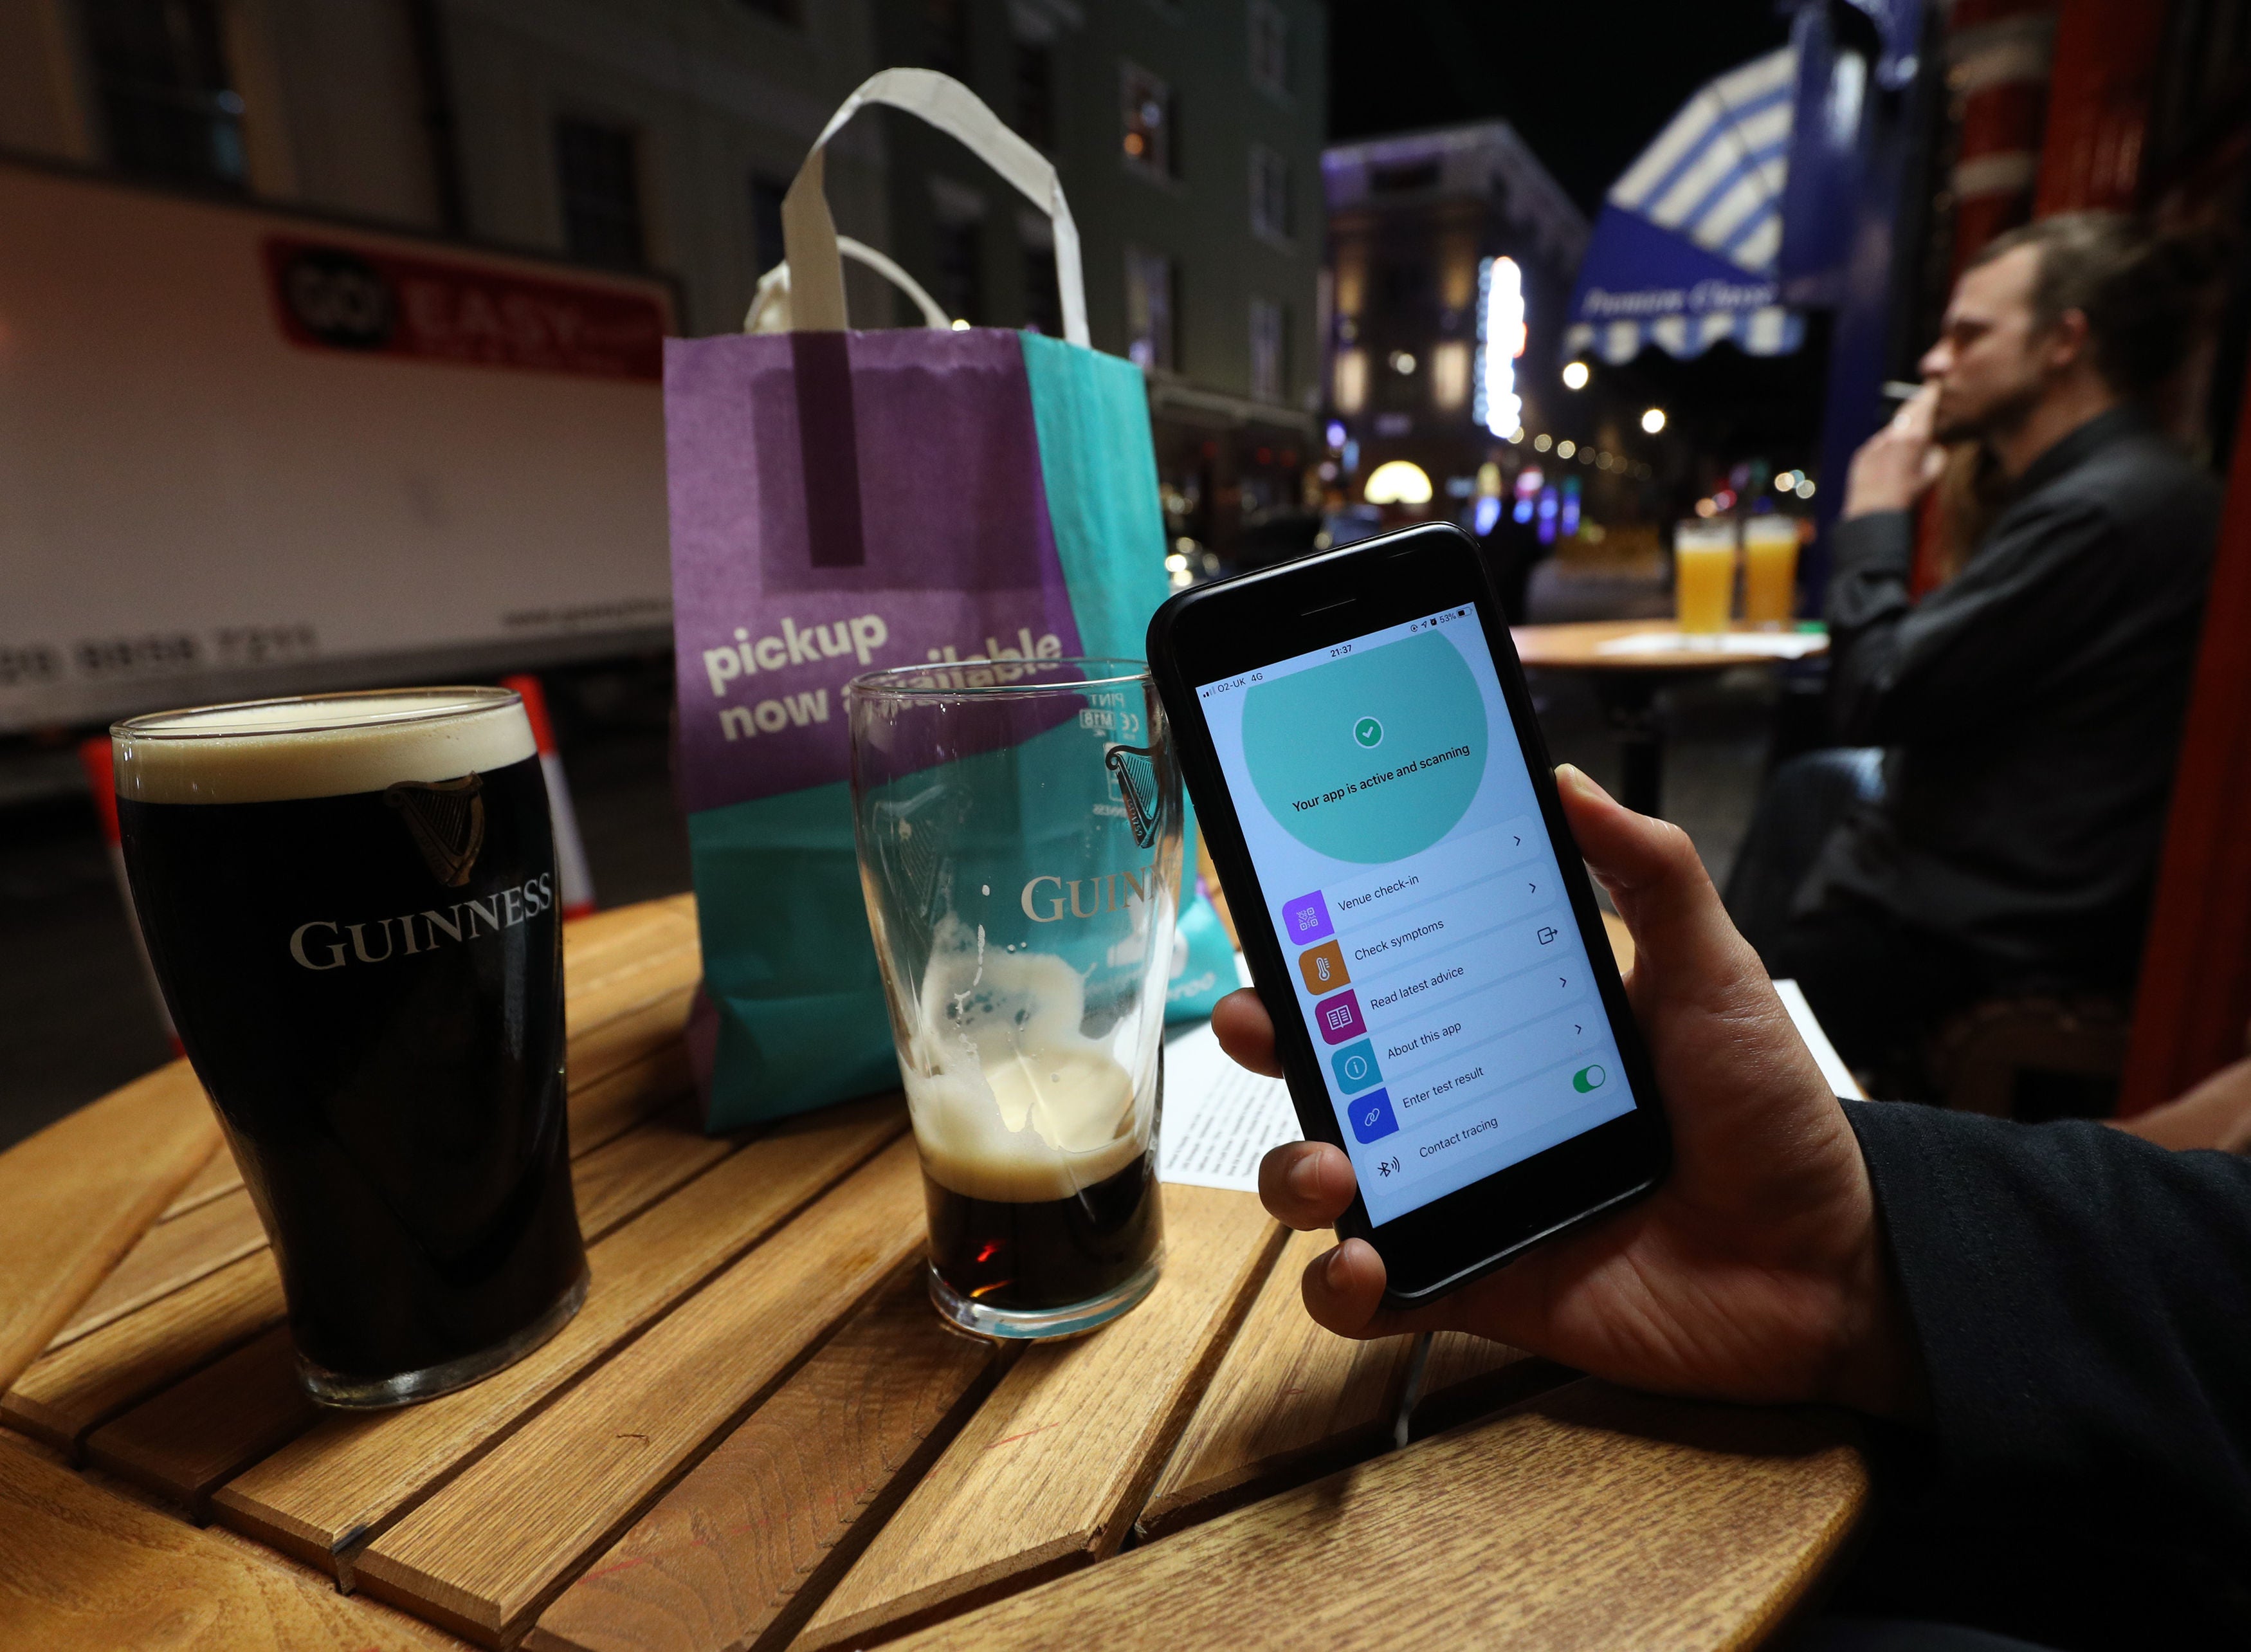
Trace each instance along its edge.
<instances>
[{"instance_id":1,"label":"dark sleeve of the person holding the smartphone","mask_svg":"<svg viewBox=\"0 0 2251 1652\"><path fill-rule=\"evenodd\" d=\"M2251 1159L1844 1103L1929 1380L1844 1609L2251 1645Z\"/></svg>"}]
</instances>

